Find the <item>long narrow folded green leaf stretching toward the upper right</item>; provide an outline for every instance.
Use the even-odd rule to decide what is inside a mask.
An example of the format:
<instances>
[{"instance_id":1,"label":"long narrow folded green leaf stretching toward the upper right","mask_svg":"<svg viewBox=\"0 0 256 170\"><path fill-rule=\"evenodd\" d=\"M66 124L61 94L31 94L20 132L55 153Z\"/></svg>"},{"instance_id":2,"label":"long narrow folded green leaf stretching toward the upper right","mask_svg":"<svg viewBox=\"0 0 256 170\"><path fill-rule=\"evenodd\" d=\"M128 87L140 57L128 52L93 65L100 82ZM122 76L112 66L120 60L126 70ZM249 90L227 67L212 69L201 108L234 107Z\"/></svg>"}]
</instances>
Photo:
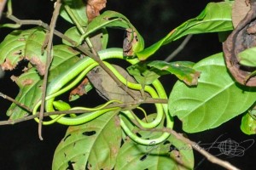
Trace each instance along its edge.
<instances>
[{"instance_id":1,"label":"long narrow folded green leaf stretching toward the upper right","mask_svg":"<svg viewBox=\"0 0 256 170\"><path fill-rule=\"evenodd\" d=\"M233 30L231 10L231 2L208 3L207 7L195 19L188 20L177 26L159 42L137 53L137 57L141 60L148 59L161 46L189 34Z\"/></svg>"}]
</instances>

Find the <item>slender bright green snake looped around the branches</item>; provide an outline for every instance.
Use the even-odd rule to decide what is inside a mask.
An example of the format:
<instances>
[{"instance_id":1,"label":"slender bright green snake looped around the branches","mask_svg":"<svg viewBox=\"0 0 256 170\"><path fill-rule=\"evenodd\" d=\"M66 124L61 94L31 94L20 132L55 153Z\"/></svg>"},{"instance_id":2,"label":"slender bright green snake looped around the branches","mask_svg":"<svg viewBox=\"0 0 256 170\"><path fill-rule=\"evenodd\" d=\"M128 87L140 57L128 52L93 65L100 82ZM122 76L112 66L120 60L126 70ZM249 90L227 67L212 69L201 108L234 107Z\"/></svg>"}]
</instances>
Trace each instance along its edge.
<instances>
[{"instance_id":1,"label":"slender bright green snake looped around the branches","mask_svg":"<svg viewBox=\"0 0 256 170\"><path fill-rule=\"evenodd\" d=\"M125 59L123 56L123 50L122 48L108 48L105 50L102 50L98 52L100 58L102 60L106 59ZM139 62L138 59L126 59L131 65L137 64ZM113 71L113 74L119 78L119 81L124 83L128 88L134 89L134 90L144 90L147 92L152 98L154 99L167 99L165 89L162 87L159 80L155 80L152 83L152 87L149 85L145 85L142 87L141 84L133 83L133 82L127 82L125 77L119 74L119 71L117 71L112 65L110 65L108 62L104 61L104 63L108 66L108 68ZM79 62L77 62L75 65L73 65L71 68L69 68L67 71L62 72L58 77L55 77L55 79L52 82L49 82L49 86L47 88L47 97L45 98L45 111L55 111L55 108L61 108L60 111L63 110L84 110L84 111L91 111L90 113L84 113L80 114L78 116L65 116L64 114L56 116L52 115L50 118L52 119L49 122L43 122L44 125L48 125L54 122L58 122L64 125L79 125L83 124L85 122L90 122L91 120L95 119L98 116L103 115L104 113L108 111L120 111L121 114L119 114L120 117L120 125L125 131L125 133L134 141L140 144L160 144L164 140L166 140L169 137L169 133L162 133L162 135L157 139L142 139L138 137L135 133L131 132L131 129L127 127L125 124L124 119L130 119L131 122L137 122L140 127L143 128L154 128L157 127L160 122L163 121L164 117L166 117L166 127L173 126L172 118L168 114L168 109L166 104L154 104L157 112L157 116L155 117L154 121L152 122L143 122L141 119L139 119L137 116L132 114L131 111L123 111L119 107L114 108L108 108L106 109L105 106L112 104L113 102L119 102L117 100L109 100L106 104L97 106L96 108L86 108L86 107L73 107L70 108L69 106L65 106L65 103L61 105L61 103L55 101L55 97L66 93L68 90L73 88L75 85L77 85L85 76L86 74L91 71L93 68L95 68L98 65L96 61L93 59L90 59L89 57L85 57L84 59L80 59ZM39 101L37 105L35 105L33 109L33 115L37 114L38 107L41 105L42 101ZM119 102L120 103L120 102ZM104 109L105 108L105 109ZM139 107L137 107L139 108ZM35 120L38 122L38 118L35 118Z\"/></svg>"}]
</instances>

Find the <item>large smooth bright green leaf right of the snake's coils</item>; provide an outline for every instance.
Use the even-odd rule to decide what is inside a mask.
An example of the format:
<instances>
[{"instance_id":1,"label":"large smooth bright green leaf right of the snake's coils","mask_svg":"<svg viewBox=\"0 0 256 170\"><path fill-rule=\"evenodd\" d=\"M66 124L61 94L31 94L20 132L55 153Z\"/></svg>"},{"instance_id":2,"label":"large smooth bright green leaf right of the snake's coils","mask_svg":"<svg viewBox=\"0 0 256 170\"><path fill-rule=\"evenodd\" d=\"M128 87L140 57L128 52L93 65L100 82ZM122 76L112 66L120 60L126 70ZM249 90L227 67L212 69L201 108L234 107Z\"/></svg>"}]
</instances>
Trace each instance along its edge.
<instances>
[{"instance_id":1,"label":"large smooth bright green leaf right of the snake's coils","mask_svg":"<svg viewBox=\"0 0 256 170\"><path fill-rule=\"evenodd\" d=\"M177 82L169 98L169 111L183 122L188 133L218 127L253 105L255 88L237 84L224 64L223 54L202 59L193 67L201 71L196 88Z\"/></svg>"}]
</instances>

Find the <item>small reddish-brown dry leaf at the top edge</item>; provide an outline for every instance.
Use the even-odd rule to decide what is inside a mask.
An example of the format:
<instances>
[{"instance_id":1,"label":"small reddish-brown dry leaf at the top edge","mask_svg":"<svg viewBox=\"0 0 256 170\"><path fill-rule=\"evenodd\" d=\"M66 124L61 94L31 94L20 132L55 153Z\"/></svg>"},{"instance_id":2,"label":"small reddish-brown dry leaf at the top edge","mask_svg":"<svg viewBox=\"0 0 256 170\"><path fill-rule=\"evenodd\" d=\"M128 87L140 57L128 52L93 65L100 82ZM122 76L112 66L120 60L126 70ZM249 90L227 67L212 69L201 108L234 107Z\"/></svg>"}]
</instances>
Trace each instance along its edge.
<instances>
[{"instance_id":1,"label":"small reddish-brown dry leaf at the top edge","mask_svg":"<svg viewBox=\"0 0 256 170\"><path fill-rule=\"evenodd\" d=\"M88 21L93 20L100 15L102 8L106 7L107 0L88 0L86 5L86 14Z\"/></svg>"}]
</instances>

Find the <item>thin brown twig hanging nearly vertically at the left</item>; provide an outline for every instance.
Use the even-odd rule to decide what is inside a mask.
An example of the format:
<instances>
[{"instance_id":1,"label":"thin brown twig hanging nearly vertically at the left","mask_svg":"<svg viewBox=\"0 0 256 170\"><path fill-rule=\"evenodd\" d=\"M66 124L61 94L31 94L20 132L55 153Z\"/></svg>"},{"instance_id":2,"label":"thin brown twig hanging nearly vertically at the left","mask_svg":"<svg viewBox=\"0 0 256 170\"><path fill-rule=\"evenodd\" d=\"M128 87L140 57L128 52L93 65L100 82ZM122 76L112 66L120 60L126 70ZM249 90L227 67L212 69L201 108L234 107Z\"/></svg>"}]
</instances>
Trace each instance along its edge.
<instances>
[{"instance_id":1,"label":"thin brown twig hanging nearly vertically at the left","mask_svg":"<svg viewBox=\"0 0 256 170\"><path fill-rule=\"evenodd\" d=\"M38 122L38 136L39 139L43 140L42 137L42 122L43 122L43 117L44 117L44 105L45 105L45 97L46 97L46 90L47 90L47 82L48 82L48 74L49 74L49 65L52 61L52 40L53 40L53 35L54 35L54 30L55 30L55 24L58 18L58 15L60 13L60 8L61 8L61 0L57 0L55 2L55 10L53 12L50 24L49 24L49 34L47 34L45 38L45 42L47 43L47 48L46 48L46 53L47 53L47 59L46 59L46 64L45 64L45 72L44 72L44 81L43 81L43 89L42 89L42 104L40 107L40 114L39 114L39 122ZM45 44L46 44L45 43ZM44 48L44 47L43 47Z\"/></svg>"}]
</instances>

